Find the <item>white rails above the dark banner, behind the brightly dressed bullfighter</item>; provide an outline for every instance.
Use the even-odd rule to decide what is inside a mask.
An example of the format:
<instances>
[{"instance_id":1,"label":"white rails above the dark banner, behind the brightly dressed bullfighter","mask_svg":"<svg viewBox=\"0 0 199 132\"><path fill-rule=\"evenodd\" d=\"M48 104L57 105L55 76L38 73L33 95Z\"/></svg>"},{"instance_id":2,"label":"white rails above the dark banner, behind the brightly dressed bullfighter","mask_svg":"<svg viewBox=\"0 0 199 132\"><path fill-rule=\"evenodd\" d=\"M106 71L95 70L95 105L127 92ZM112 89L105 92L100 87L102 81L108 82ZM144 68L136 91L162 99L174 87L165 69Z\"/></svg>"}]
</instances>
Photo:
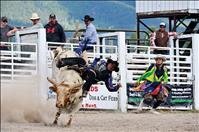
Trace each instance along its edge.
<instances>
[{"instance_id":1,"label":"white rails above the dark banner, behind the brightly dressed bullfighter","mask_svg":"<svg viewBox=\"0 0 199 132\"><path fill-rule=\"evenodd\" d=\"M126 67L127 82L135 82L150 66L155 63L152 51L149 46L127 46ZM192 49L190 48L166 48L170 51L165 55L165 62L168 68L170 84L192 84ZM139 53L137 52L139 51ZM186 55L177 55L177 52L187 52ZM173 54L171 54L173 53Z\"/></svg>"}]
</instances>

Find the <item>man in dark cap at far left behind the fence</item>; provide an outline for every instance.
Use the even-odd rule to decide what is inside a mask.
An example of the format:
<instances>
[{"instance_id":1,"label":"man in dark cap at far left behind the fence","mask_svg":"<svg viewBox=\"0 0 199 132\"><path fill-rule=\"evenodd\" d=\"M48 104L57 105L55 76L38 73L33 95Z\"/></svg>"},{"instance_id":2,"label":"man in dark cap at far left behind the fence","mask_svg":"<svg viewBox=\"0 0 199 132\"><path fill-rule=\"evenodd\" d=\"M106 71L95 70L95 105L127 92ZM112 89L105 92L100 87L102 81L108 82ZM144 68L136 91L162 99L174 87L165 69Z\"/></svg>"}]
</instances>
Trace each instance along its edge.
<instances>
[{"instance_id":1,"label":"man in dark cap at far left behind the fence","mask_svg":"<svg viewBox=\"0 0 199 132\"><path fill-rule=\"evenodd\" d=\"M8 38L17 31L16 27L8 25L8 19L6 16L1 17L1 32L0 32L0 42L8 42ZM1 50L8 50L5 44L0 45Z\"/></svg>"}]
</instances>

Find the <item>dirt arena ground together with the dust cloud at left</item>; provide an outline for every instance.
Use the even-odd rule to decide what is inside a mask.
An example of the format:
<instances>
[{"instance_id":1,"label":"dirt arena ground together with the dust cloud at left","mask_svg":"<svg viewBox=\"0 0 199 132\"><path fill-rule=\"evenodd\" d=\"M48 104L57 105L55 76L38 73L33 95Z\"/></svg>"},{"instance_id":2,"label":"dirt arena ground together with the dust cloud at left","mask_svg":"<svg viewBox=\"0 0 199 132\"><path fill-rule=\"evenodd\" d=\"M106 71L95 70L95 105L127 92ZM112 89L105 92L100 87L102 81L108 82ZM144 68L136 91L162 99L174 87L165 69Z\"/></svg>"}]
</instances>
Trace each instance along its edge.
<instances>
[{"instance_id":1,"label":"dirt arena ground together with the dust cloud at left","mask_svg":"<svg viewBox=\"0 0 199 132\"><path fill-rule=\"evenodd\" d=\"M40 103L38 84L1 84L1 132L199 132L199 112L192 111L79 111L71 127L64 127L65 114L52 126L55 102Z\"/></svg>"}]
</instances>

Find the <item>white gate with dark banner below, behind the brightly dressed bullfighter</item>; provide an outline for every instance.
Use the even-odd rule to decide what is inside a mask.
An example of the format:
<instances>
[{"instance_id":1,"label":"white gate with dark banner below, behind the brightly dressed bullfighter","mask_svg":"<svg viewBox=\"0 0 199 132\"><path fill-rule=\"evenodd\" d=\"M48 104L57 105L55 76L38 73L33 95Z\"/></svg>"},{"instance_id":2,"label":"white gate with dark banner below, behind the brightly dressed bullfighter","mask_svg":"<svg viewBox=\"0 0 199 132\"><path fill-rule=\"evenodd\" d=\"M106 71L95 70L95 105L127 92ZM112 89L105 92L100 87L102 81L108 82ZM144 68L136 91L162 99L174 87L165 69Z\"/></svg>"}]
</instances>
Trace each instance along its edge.
<instances>
[{"instance_id":1,"label":"white gate with dark banner below, behind the brightly dressed bullfighter","mask_svg":"<svg viewBox=\"0 0 199 132\"><path fill-rule=\"evenodd\" d=\"M190 107L193 103L193 85L192 85L192 49L191 48L167 48L170 55L165 55L167 58L166 66L168 68L168 82L172 85L171 99L166 105L179 105ZM134 83L152 64L155 63L153 54L154 49L148 46L127 46L127 83ZM137 53L139 51L139 53ZM178 53L187 52L187 54L179 55ZM128 90L128 108L138 106L142 99L142 92Z\"/></svg>"}]
</instances>

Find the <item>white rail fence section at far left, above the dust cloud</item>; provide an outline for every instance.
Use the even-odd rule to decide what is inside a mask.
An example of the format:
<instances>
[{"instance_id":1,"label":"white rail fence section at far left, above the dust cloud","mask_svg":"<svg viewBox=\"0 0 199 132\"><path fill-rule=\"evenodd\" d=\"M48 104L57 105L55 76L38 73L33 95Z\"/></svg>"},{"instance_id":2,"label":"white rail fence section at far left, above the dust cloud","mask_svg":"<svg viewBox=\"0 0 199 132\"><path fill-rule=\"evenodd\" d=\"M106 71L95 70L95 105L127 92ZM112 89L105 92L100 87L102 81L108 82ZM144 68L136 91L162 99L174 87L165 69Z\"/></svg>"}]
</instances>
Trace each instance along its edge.
<instances>
[{"instance_id":1,"label":"white rail fence section at far left, above the dust cloud","mask_svg":"<svg viewBox=\"0 0 199 132\"><path fill-rule=\"evenodd\" d=\"M1 82L37 74L37 44L1 42L1 45L8 47L8 50L1 50Z\"/></svg>"}]
</instances>

